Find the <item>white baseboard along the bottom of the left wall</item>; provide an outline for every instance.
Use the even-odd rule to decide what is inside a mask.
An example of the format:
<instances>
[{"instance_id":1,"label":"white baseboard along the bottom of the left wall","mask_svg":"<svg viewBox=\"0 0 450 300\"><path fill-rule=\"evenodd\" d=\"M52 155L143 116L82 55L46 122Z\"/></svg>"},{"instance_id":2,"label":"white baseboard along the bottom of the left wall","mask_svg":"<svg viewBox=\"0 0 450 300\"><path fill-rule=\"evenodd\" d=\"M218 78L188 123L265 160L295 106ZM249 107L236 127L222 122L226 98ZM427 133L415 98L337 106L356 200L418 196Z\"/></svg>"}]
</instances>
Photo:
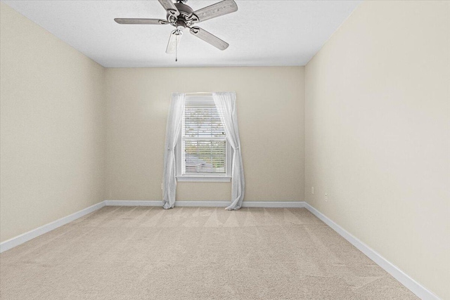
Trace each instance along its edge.
<instances>
[{"instance_id":1,"label":"white baseboard along the bottom of the left wall","mask_svg":"<svg viewBox=\"0 0 450 300\"><path fill-rule=\"evenodd\" d=\"M75 221L76 219L85 216L86 214L90 214L92 211L96 211L97 209L101 209L105 206L105 202L99 202L97 204L92 205L91 207L86 207L80 211L77 211L75 214L70 214L69 216L65 216L61 219L48 223L44 226L38 227L36 229L30 230L27 233L23 233L18 235L17 237L13 237L9 240L0 243L0 253L5 252L15 246L23 244L24 242L28 242L29 240L34 239L34 237L39 237L39 235L43 235L44 233L48 233L49 231L56 229L60 226L63 226L67 223Z\"/></svg>"}]
</instances>

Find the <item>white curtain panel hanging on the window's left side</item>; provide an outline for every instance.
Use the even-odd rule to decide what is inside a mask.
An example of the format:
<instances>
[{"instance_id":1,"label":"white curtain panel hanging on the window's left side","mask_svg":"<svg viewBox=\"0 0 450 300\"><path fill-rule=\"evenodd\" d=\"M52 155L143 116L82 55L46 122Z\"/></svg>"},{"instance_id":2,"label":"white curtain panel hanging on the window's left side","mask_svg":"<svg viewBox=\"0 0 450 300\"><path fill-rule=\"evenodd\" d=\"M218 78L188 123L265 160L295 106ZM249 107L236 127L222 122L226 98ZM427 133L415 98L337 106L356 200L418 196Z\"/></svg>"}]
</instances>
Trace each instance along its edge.
<instances>
[{"instance_id":1,"label":"white curtain panel hanging on the window's left side","mask_svg":"<svg viewBox=\"0 0 450 300\"><path fill-rule=\"evenodd\" d=\"M181 134L181 122L184 112L184 93L173 93L167 117L166 143L164 150L164 171L162 177L162 204L171 209L175 204L176 165L175 146Z\"/></svg>"}]
</instances>

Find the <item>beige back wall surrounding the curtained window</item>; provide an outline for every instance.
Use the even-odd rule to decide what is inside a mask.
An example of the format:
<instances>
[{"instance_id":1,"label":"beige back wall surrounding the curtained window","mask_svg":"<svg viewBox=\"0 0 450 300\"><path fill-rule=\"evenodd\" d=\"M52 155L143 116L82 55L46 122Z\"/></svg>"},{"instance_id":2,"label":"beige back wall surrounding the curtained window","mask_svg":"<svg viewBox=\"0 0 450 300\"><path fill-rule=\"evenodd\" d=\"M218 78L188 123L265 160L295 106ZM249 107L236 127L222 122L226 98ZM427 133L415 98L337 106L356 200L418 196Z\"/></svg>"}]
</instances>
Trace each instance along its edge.
<instances>
[{"instance_id":1,"label":"beige back wall surrounding the curtained window","mask_svg":"<svg viewBox=\"0 0 450 300\"><path fill-rule=\"evenodd\" d=\"M304 67L106 70L109 200L161 200L173 92L236 91L245 201L302 201ZM231 200L231 183L178 183L177 200Z\"/></svg>"}]
</instances>

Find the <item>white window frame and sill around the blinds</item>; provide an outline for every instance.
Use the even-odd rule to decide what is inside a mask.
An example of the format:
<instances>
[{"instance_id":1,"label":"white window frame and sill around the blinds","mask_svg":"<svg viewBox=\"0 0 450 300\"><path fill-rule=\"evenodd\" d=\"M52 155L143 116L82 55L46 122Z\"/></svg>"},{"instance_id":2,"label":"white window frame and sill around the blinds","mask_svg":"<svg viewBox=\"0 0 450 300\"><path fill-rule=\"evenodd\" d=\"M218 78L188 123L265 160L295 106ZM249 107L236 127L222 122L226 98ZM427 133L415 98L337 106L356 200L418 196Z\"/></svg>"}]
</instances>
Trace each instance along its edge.
<instances>
[{"instance_id":1,"label":"white window frame and sill around the blinds","mask_svg":"<svg viewBox=\"0 0 450 300\"><path fill-rule=\"evenodd\" d=\"M212 93L202 93L201 95L186 95L185 107L190 105L205 105L205 103L211 103L214 105L214 99L212 98ZM184 112L183 112L184 118ZM183 125L181 125L183 126ZM182 164L183 164L183 128L179 135L179 139L175 146L175 164L176 164L176 181L190 181L190 182L230 182L231 181L231 164L233 157L233 148L225 138L225 173L224 174L183 174ZM207 139L206 139L207 140ZM211 140L214 140L212 138ZM217 140L217 139L216 139Z\"/></svg>"}]
</instances>

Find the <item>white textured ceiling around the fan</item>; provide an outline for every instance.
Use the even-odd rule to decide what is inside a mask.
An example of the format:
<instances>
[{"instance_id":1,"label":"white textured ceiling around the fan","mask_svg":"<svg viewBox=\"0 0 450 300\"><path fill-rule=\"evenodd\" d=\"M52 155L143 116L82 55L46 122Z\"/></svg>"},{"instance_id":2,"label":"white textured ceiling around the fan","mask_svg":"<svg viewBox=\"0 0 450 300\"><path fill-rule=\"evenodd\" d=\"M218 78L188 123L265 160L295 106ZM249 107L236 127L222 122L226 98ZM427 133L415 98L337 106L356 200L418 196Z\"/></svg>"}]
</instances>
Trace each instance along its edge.
<instances>
[{"instance_id":1,"label":"white textured ceiling around the fan","mask_svg":"<svg viewBox=\"0 0 450 300\"><path fill-rule=\"evenodd\" d=\"M194 11L217 1L189 0ZM200 22L227 41L220 51L186 30L178 62L165 53L171 25L119 25L162 18L147 1L3 1L104 67L306 65L360 1L236 0L238 11Z\"/></svg>"}]
</instances>

